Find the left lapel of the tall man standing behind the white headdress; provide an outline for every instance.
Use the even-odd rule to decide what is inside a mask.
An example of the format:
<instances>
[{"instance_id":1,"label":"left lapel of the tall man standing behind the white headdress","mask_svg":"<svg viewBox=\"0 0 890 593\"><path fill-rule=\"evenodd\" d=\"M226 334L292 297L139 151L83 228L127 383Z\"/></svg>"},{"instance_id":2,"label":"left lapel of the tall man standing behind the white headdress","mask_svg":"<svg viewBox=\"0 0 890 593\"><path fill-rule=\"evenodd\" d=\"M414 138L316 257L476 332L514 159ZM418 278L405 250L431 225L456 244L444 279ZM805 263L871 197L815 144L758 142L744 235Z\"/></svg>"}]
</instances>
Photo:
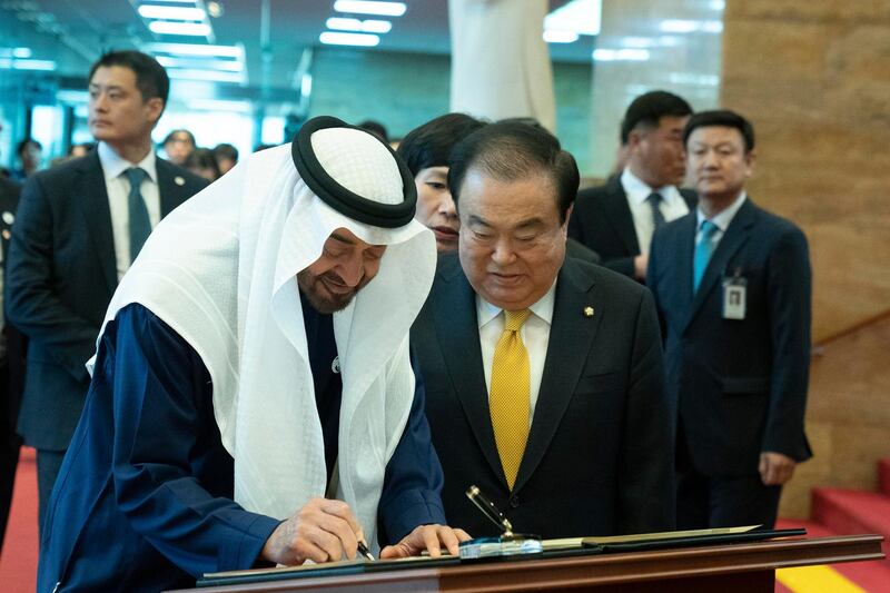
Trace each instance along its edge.
<instances>
[{"instance_id":1,"label":"left lapel of the tall man standing behind the white headdress","mask_svg":"<svg viewBox=\"0 0 890 593\"><path fill-rule=\"evenodd\" d=\"M98 151L83 157L80 177L75 180L72 199L80 206L87 221L90 239L96 248L108 289L113 293L118 285L115 235L111 230L111 209L108 206L108 189L105 185L102 164Z\"/></svg>"}]
</instances>

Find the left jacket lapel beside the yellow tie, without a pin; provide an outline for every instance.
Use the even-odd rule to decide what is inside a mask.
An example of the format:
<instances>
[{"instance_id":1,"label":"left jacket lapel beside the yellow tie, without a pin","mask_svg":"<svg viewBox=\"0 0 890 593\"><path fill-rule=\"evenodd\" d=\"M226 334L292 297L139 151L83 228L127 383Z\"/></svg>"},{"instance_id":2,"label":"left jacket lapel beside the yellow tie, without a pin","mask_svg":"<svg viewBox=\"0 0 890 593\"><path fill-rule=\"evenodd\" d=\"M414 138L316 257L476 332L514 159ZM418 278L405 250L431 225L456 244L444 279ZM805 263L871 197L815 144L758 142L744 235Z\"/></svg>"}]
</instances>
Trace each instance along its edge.
<instances>
[{"instance_id":1,"label":"left jacket lapel beside the yellow tie, without a pin","mask_svg":"<svg viewBox=\"0 0 890 593\"><path fill-rule=\"evenodd\" d=\"M434 291L436 335L457 399L482 448L485 459L506 488L504 470L494 441L488 392L482 364L476 297L455 258L441 289Z\"/></svg>"}]
</instances>

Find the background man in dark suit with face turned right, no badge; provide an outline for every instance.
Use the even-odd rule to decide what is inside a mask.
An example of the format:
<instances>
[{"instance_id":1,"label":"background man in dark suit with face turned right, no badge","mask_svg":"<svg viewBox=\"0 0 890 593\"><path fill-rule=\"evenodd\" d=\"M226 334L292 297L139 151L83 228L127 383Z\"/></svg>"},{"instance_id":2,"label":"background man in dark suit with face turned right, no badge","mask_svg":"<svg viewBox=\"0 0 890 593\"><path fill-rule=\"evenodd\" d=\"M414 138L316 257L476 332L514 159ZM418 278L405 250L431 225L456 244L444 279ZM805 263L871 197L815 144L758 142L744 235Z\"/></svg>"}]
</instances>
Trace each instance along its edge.
<instances>
[{"instance_id":1,"label":"background man in dark suit with face turned right, no badge","mask_svg":"<svg viewBox=\"0 0 890 593\"><path fill-rule=\"evenodd\" d=\"M634 99L621 123L626 167L604 186L578 192L568 236L600 254L605 267L645 281L652 233L694 207L695 194L678 189L691 113L685 100L666 91Z\"/></svg>"}]
</instances>

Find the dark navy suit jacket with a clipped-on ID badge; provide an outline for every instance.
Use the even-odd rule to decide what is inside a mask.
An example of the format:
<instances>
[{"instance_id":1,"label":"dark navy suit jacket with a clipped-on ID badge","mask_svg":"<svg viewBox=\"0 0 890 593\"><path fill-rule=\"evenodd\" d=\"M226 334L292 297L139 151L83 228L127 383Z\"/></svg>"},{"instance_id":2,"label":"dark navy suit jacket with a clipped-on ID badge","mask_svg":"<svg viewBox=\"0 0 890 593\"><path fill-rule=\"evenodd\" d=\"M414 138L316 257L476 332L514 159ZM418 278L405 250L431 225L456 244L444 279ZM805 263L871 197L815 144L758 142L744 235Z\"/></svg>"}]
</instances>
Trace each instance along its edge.
<instances>
[{"instance_id":1,"label":"dark navy suit jacket with a clipped-on ID badge","mask_svg":"<svg viewBox=\"0 0 890 593\"><path fill-rule=\"evenodd\" d=\"M810 259L803 233L746 199L692 294L695 211L657 233L649 287L665 324L668 393L695 468L756 474L760 453L811 456L803 433L810 368ZM722 318L722 280L748 281L743 320Z\"/></svg>"}]
</instances>

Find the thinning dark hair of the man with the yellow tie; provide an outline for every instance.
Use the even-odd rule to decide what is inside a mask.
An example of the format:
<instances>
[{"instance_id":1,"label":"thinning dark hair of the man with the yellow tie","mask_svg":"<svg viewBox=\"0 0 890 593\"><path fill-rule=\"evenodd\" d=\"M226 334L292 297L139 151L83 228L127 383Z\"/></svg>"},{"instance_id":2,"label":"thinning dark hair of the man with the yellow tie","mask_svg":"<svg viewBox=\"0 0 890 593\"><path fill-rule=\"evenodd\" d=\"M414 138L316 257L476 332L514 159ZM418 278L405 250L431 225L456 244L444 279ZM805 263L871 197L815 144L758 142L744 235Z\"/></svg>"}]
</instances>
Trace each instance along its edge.
<instances>
[{"instance_id":1,"label":"thinning dark hair of the man with the yellow tie","mask_svg":"<svg viewBox=\"0 0 890 593\"><path fill-rule=\"evenodd\" d=\"M457 208L461 186L472 168L498 180L547 175L556 192L561 223L565 223L575 201L580 182L574 157L562 149L555 136L543 127L516 121L498 121L477 129L454 147L448 166L448 187Z\"/></svg>"}]
</instances>

